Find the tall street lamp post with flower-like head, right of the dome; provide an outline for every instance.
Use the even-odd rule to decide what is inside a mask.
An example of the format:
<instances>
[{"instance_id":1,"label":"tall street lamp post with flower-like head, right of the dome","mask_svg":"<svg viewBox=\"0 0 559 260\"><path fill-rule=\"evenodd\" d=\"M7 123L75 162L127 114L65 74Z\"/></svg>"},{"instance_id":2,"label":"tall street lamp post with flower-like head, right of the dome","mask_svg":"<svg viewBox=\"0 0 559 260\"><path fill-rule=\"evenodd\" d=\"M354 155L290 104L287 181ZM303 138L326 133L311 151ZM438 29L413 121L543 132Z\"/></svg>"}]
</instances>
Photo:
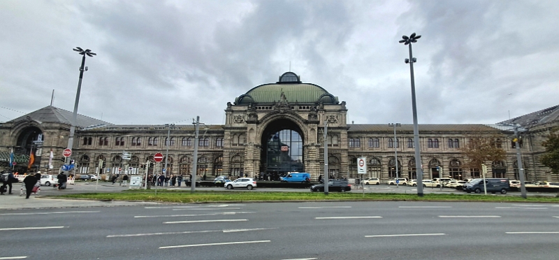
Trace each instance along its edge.
<instances>
[{"instance_id":1,"label":"tall street lamp post with flower-like head, right of the dome","mask_svg":"<svg viewBox=\"0 0 559 260\"><path fill-rule=\"evenodd\" d=\"M414 62L416 58L412 55L412 43L416 43L421 35L402 36L399 43L409 45L409 59L405 59L405 63L409 63L409 73L412 76L412 109L414 114L414 145L415 145L415 168L417 173L417 196L423 196L423 168L421 168L421 154L419 153L419 129L417 127L417 106L415 100L415 80L414 80Z\"/></svg>"}]
</instances>

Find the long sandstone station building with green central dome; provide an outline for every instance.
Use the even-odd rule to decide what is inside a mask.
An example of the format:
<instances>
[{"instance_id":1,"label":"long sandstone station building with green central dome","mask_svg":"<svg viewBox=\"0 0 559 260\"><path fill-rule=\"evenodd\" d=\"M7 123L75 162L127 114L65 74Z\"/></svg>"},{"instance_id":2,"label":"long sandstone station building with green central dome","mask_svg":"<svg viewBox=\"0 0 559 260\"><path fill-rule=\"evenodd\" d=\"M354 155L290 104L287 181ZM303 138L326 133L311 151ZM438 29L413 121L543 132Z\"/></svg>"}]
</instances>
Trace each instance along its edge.
<instances>
[{"instance_id":1,"label":"long sandstone station building with green central dome","mask_svg":"<svg viewBox=\"0 0 559 260\"><path fill-rule=\"evenodd\" d=\"M279 76L275 83L250 89L226 105L224 125L201 126L198 140L197 175L211 180L218 175L261 175L277 178L287 172L307 172L316 180L324 174L324 126L328 124L328 174L336 177L360 178L356 158L367 158L368 173L363 177L382 180L398 176L415 179L413 125L396 129L388 124L347 124L344 101L323 87L303 83L292 72ZM61 167L62 150L68 143L72 113L48 106L28 115L0 124L0 168L8 168L10 148L16 154L16 167L27 171L29 154L36 154L32 171L57 172ZM460 147L467 135L476 131L502 133L497 140L506 152L503 161L488 166L495 178L518 179L516 150L511 143L513 131L502 124L520 124L521 152L526 180L553 180L549 168L539 163L544 152L542 140L551 127L559 125L559 106L506 120L495 125L484 124L419 124L423 178L438 178L437 166L443 176L456 179L475 178L479 169L464 168ZM110 124L92 117L78 115L72 159L76 173L94 174L99 159L105 162L103 173L144 173L140 168L154 161L154 154L169 149L167 174L189 175L194 154L194 126ZM38 140L38 142L36 142ZM35 141L35 142L34 142ZM398 150L398 160L394 149ZM48 169L50 150L55 154ZM122 152L131 152L123 160ZM165 161L165 159L164 159ZM152 164L153 165L153 164ZM155 171L161 173L161 164ZM149 169L150 173L154 167Z\"/></svg>"}]
</instances>

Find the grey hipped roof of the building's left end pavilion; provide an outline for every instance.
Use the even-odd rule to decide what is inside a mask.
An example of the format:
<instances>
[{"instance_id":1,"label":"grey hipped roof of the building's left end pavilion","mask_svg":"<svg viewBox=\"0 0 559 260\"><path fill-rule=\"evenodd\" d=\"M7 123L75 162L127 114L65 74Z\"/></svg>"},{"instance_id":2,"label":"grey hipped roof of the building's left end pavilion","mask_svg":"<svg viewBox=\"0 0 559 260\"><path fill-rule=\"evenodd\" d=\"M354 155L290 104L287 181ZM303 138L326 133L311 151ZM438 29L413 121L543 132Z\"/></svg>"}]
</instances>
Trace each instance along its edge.
<instances>
[{"instance_id":1,"label":"grey hipped roof of the building's left end pavilion","mask_svg":"<svg viewBox=\"0 0 559 260\"><path fill-rule=\"evenodd\" d=\"M14 120L8 121L8 123L19 122L22 120L36 120L36 122L42 123L58 123L58 124L68 124L72 125L73 112L64 110L61 108L55 108L54 106L46 106L27 115L22 115ZM92 125L106 124L111 125L108 122L102 120L96 120L92 117L87 117L85 115L78 114L76 118L76 127L89 127Z\"/></svg>"}]
</instances>

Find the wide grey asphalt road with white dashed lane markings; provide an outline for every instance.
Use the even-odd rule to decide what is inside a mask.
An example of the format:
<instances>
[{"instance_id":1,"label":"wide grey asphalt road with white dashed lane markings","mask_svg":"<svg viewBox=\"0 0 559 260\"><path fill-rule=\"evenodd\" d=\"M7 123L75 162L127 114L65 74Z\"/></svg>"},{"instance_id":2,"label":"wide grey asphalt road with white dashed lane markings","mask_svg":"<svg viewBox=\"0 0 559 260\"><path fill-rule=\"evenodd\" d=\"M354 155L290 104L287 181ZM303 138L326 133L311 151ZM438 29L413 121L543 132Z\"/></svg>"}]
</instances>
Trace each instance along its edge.
<instances>
[{"instance_id":1,"label":"wide grey asphalt road with white dashed lane markings","mask_svg":"<svg viewBox=\"0 0 559 260\"><path fill-rule=\"evenodd\" d=\"M0 220L0 259L509 260L559 255L559 204L548 203L159 204L0 210Z\"/></svg>"}]
</instances>

